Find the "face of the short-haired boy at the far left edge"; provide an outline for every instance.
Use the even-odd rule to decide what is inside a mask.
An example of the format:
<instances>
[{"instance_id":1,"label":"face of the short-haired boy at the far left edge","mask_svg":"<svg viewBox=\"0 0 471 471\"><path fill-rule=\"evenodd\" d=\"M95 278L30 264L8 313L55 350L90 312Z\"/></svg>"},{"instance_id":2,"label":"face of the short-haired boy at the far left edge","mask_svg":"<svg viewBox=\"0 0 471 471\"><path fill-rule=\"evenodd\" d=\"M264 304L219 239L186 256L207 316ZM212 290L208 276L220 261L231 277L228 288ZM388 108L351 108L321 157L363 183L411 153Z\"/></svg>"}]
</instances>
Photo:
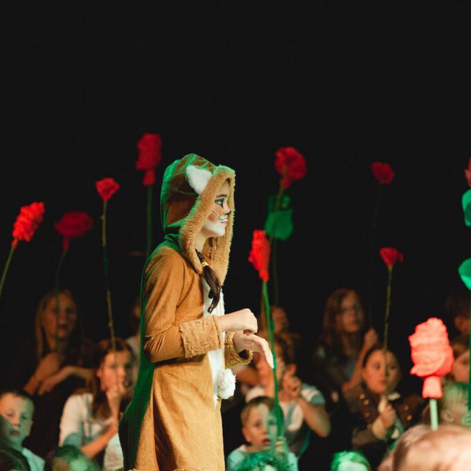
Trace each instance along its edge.
<instances>
[{"instance_id":1,"label":"face of the short-haired boy at the far left edge","mask_svg":"<svg viewBox=\"0 0 471 471\"><path fill-rule=\"evenodd\" d=\"M1 441L21 451L21 443L30 434L33 424L33 403L11 393L0 398Z\"/></svg>"}]
</instances>

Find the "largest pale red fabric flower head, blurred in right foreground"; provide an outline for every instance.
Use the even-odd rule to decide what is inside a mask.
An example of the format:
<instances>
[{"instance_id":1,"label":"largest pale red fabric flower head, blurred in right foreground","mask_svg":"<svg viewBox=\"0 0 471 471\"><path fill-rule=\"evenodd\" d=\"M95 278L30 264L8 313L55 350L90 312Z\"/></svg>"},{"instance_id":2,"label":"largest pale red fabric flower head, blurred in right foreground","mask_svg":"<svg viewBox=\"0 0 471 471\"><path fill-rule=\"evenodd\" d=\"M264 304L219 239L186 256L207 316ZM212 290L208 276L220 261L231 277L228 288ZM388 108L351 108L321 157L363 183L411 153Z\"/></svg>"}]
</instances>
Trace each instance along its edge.
<instances>
[{"instance_id":1,"label":"largest pale red fabric flower head, blurred in right foreground","mask_svg":"<svg viewBox=\"0 0 471 471\"><path fill-rule=\"evenodd\" d=\"M440 378L452 371L454 360L445 324L436 317L427 319L409 335L409 344L414 362L411 374L424 378L423 398L441 398Z\"/></svg>"}]
</instances>

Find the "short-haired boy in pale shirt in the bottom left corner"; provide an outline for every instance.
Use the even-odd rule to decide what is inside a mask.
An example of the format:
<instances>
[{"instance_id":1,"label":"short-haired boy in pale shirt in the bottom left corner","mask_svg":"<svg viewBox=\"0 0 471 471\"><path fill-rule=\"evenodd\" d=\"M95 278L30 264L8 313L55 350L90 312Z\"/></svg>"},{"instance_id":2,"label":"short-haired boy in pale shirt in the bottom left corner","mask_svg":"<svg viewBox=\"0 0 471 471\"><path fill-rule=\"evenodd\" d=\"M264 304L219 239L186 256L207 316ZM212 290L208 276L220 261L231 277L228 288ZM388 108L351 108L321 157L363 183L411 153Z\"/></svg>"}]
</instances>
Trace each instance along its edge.
<instances>
[{"instance_id":1,"label":"short-haired boy in pale shirt in the bottom left corner","mask_svg":"<svg viewBox=\"0 0 471 471\"><path fill-rule=\"evenodd\" d=\"M5 389L0 392L0 444L23 454L32 471L42 471L44 459L23 446L30 434L34 409L33 398L26 391Z\"/></svg>"}]
</instances>

